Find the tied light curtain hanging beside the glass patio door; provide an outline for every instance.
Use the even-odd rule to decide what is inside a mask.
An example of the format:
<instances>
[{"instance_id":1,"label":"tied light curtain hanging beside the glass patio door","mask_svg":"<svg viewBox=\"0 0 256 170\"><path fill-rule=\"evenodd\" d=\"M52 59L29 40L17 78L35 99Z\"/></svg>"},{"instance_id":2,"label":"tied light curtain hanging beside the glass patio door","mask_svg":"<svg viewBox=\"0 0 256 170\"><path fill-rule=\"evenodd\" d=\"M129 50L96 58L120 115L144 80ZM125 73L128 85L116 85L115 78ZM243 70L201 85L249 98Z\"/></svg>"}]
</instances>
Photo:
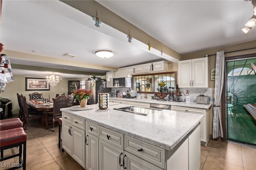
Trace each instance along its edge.
<instances>
[{"instance_id":1,"label":"tied light curtain hanging beside the glass patio door","mask_svg":"<svg viewBox=\"0 0 256 170\"><path fill-rule=\"evenodd\" d=\"M213 107L213 128L212 138L223 138L222 120L221 120L221 94L224 83L224 51L217 52L216 54L216 71L215 71L215 84L214 84L214 107Z\"/></svg>"}]
</instances>

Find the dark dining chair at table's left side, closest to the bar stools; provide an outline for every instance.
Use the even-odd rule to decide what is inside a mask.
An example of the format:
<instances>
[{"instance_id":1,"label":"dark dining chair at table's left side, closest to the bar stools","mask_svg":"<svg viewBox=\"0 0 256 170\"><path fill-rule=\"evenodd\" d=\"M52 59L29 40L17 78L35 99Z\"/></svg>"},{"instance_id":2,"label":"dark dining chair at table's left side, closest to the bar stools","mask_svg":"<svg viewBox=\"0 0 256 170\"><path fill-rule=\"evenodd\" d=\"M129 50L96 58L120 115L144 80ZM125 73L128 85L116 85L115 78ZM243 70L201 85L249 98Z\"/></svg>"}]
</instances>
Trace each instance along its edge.
<instances>
[{"instance_id":1,"label":"dark dining chair at table's left side, closest to the bar stools","mask_svg":"<svg viewBox=\"0 0 256 170\"><path fill-rule=\"evenodd\" d=\"M23 127L26 130L28 128L28 121L30 119L38 119L39 121L42 120L42 126L44 126L44 117L45 115L41 111L34 111L34 112L29 112L28 111L28 106L26 102L26 97L23 96L22 94L20 95L20 101L22 105L22 110L24 112L24 124Z\"/></svg>"}]
</instances>

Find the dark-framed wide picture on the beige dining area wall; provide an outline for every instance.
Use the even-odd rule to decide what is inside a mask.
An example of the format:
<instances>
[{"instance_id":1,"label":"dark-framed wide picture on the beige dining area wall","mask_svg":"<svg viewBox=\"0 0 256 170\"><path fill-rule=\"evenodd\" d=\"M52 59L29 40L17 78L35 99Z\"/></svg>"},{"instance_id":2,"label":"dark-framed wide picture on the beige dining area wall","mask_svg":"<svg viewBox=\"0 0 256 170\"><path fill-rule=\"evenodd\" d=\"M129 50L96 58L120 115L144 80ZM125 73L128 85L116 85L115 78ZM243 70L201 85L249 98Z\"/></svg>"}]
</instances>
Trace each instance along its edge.
<instances>
[{"instance_id":1,"label":"dark-framed wide picture on the beige dining area wall","mask_svg":"<svg viewBox=\"0 0 256 170\"><path fill-rule=\"evenodd\" d=\"M45 78L25 77L25 90L50 90L50 86Z\"/></svg>"}]
</instances>

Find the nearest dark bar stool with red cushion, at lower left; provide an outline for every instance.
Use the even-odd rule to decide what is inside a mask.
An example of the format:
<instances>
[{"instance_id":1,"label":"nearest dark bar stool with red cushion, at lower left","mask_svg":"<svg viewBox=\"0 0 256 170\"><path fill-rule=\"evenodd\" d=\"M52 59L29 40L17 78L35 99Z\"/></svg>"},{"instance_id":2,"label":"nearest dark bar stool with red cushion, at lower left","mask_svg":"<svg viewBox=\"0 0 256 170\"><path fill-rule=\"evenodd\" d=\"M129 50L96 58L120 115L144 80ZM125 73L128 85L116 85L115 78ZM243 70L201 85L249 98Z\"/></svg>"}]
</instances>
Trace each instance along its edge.
<instances>
[{"instance_id":1,"label":"nearest dark bar stool with red cushion, at lower left","mask_svg":"<svg viewBox=\"0 0 256 170\"><path fill-rule=\"evenodd\" d=\"M1 150L0 162L3 160L7 160L10 158L19 156L19 163L16 163L14 166L12 164L10 165L7 164L7 166L10 166L10 169L13 169L13 170L21 167L23 168L23 170L26 170L26 141L27 141L27 134L24 132L22 127L0 131L0 150ZM22 160L22 145L23 145L23 160ZM19 147L19 153L11 156L7 156L4 158L4 150L14 148L14 147Z\"/></svg>"}]
</instances>

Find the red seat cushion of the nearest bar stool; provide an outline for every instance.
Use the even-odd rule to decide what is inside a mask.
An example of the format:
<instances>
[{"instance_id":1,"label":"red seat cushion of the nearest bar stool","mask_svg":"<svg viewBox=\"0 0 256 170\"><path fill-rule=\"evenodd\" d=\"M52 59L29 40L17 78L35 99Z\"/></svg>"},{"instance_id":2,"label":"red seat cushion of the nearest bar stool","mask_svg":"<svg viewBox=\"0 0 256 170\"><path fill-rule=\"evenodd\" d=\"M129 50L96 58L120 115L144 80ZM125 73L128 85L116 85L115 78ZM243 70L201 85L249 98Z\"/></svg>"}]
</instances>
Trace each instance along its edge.
<instances>
[{"instance_id":1,"label":"red seat cushion of the nearest bar stool","mask_svg":"<svg viewBox=\"0 0 256 170\"><path fill-rule=\"evenodd\" d=\"M27 134L22 127L0 131L0 146L5 147L27 141Z\"/></svg>"}]
</instances>

